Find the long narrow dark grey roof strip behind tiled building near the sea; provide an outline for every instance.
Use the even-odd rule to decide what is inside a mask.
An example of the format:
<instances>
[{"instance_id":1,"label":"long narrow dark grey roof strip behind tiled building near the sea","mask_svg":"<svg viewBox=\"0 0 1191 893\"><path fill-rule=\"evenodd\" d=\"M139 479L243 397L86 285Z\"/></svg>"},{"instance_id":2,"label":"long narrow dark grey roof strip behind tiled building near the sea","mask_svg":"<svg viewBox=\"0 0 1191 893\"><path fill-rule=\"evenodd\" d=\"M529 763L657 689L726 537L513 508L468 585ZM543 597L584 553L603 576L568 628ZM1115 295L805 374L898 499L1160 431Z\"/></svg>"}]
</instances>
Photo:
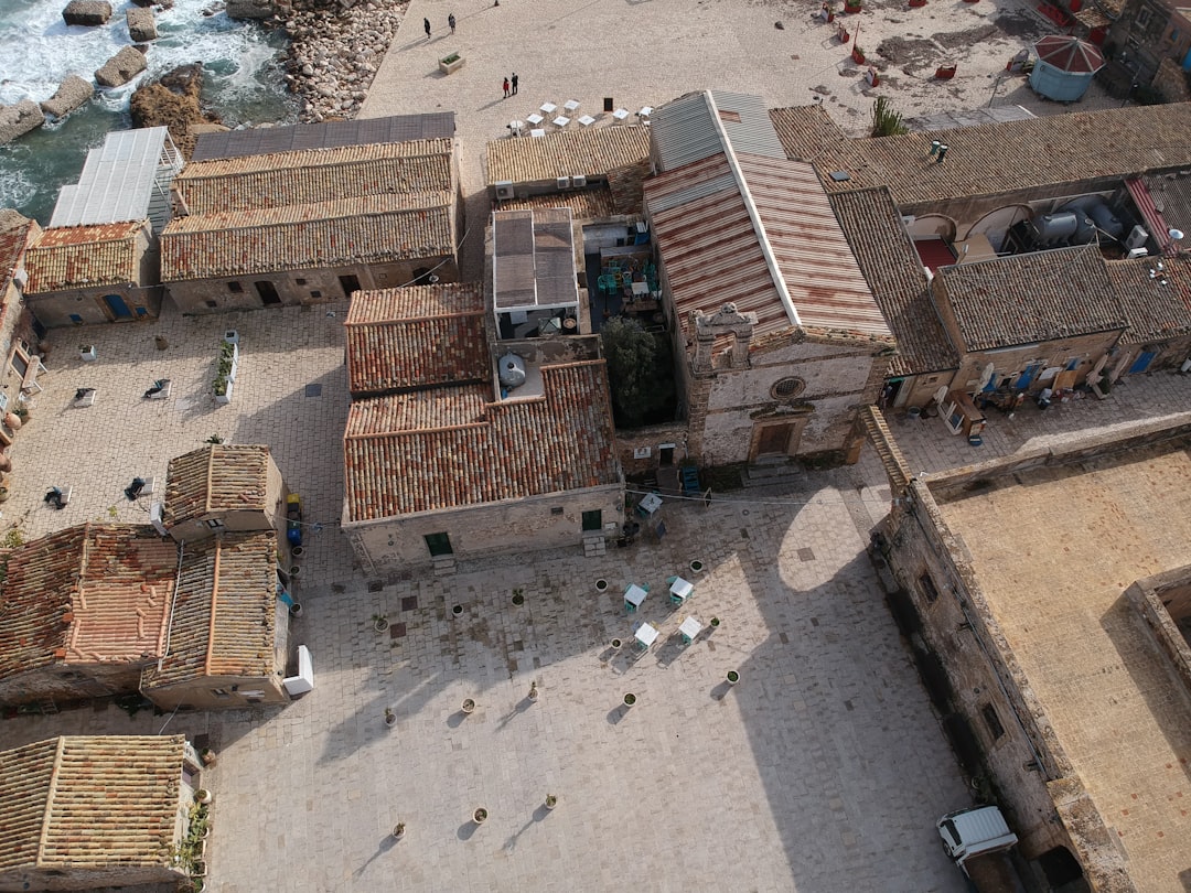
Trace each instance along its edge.
<instances>
[{"instance_id":1,"label":"long narrow dark grey roof strip behind tiled building near the sea","mask_svg":"<svg viewBox=\"0 0 1191 893\"><path fill-rule=\"evenodd\" d=\"M191 161L235 158L306 149L333 149L368 143L404 143L411 139L451 139L455 113L397 114L325 124L295 124L288 127L252 127L225 133L202 133Z\"/></svg>"}]
</instances>

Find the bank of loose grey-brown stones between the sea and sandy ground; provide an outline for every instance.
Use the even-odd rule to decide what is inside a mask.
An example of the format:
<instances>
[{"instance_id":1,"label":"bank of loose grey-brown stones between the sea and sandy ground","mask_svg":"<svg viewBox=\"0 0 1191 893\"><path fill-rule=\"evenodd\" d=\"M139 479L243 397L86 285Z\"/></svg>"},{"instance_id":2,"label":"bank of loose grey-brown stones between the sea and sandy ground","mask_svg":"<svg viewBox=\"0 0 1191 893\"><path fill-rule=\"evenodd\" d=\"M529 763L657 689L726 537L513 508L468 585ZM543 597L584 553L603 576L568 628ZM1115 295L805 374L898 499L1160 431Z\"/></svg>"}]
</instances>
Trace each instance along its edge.
<instances>
[{"instance_id":1,"label":"bank of loose grey-brown stones between the sea and sandy ground","mask_svg":"<svg viewBox=\"0 0 1191 893\"><path fill-rule=\"evenodd\" d=\"M406 6L367 0L326 8L295 0L279 14L291 40L286 83L303 100L304 121L355 117Z\"/></svg>"}]
</instances>

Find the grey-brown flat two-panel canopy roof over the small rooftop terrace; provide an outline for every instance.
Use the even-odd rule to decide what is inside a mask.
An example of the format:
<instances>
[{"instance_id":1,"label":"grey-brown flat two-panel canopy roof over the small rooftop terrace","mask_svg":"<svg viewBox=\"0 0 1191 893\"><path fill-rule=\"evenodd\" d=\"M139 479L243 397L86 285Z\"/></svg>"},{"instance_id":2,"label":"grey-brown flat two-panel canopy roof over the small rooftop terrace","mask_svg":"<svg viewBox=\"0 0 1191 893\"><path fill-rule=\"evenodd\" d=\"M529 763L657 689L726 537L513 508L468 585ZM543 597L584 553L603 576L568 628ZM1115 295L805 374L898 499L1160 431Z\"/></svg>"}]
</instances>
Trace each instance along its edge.
<instances>
[{"instance_id":1,"label":"grey-brown flat two-panel canopy roof over the small rooftop terrace","mask_svg":"<svg viewBox=\"0 0 1191 893\"><path fill-rule=\"evenodd\" d=\"M579 302L568 208L492 214L492 292L498 311Z\"/></svg>"}]
</instances>

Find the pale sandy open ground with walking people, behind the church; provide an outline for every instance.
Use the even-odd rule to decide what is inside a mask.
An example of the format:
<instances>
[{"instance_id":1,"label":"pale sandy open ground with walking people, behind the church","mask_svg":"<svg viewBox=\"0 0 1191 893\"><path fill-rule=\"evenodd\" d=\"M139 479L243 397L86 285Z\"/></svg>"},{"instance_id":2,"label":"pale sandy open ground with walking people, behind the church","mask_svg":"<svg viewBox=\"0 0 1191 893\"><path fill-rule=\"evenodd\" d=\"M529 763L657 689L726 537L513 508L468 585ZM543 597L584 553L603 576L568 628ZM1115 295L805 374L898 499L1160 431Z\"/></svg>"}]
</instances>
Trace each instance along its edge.
<instances>
[{"instance_id":1,"label":"pale sandy open ground with walking people, behind the church","mask_svg":"<svg viewBox=\"0 0 1191 893\"><path fill-rule=\"evenodd\" d=\"M594 126L615 126L604 102L636 112L698 89L761 95L771 107L822 101L844 131L865 136L873 102L887 96L906 118L991 105L1021 105L1035 114L1118 105L1096 85L1079 104L1042 100L1006 63L1055 33L1029 0L866 0L841 15L881 76L863 80L852 43L812 18L821 0L411 0L363 104L361 118L450 110L456 113L469 232L461 261L467 279L482 273L485 144L509 138L507 124L543 102L581 102ZM840 2L842 7L842 1ZM457 31L447 26L448 14ZM431 23L431 38L423 32ZM777 27L778 23L781 27ZM459 52L451 75L437 61ZM954 63L949 81L935 69ZM520 92L505 99L501 80L517 71ZM630 121L634 118L629 119ZM569 126L575 127L572 123ZM553 130L547 124L548 130Z\"/></svg>"}]
</instances>

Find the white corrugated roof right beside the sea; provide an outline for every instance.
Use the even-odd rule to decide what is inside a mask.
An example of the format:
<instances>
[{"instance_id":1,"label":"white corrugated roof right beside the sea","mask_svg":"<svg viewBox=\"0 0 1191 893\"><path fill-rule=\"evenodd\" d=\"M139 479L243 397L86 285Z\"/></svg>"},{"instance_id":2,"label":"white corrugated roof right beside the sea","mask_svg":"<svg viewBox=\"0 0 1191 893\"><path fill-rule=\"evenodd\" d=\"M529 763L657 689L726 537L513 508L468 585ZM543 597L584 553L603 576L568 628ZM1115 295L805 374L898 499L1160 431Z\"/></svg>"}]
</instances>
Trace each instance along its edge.
<instances>
[{"instance_id":1,"label":"white corrugated roof right beside the sea","mask_svg":"<svg viewBox=\"0 0 1191 893\"><path fill-rule=\"evenodd\" d=\"M162 167L168 171L158 182ZM182 156L167 127L113 131L87 152L79 183L60 191L50 226L144 220L155 186L168 194L169 176L181 169Z\"/></svg>"}]
</instances>

